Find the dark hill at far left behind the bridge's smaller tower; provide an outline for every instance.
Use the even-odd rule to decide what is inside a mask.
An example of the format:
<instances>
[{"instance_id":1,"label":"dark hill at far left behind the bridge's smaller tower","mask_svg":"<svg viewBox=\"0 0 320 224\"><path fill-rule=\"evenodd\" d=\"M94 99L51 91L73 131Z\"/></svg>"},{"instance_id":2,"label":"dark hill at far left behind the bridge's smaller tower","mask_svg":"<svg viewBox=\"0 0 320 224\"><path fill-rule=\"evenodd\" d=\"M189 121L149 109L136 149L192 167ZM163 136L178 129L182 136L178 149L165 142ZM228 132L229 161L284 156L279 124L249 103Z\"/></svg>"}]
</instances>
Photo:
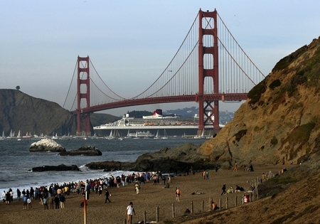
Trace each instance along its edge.
<instances>
[{"instance_id":1,"label":"dark hill at far left behind the bridge's smaller tower","mask_svg":"<svg viewBox=\"0 0 320 224\"><path fill-rule=\"evenodd\" d=\"M75 133L75 116L55 102L31 97L19 90L0 90L0 130L16 134Z\"/></svg>"}]
</instances>

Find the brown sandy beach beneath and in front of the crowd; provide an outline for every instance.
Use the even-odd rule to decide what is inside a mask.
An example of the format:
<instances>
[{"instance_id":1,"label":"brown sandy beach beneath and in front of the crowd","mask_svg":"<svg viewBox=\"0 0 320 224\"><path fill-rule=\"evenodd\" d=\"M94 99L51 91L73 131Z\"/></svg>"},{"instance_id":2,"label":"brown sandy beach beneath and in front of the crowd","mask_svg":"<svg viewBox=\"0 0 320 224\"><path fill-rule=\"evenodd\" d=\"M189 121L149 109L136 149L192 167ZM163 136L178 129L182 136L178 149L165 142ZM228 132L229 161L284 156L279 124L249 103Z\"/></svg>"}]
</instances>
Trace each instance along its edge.
<instances>
[{"instance_id":1,"label":"brown sandy beach beneath and in front of the crowd","mask_svg":"<svg viewBox=\"0 0 320 224\"><path fill-rule=\"evenodd\" d=\"M286 166L288 168L288 166ZM87 201L87 223L124 223L126 218L125 211L129 202L134 203L137 215L133 216L133 223L139 223L144 220L144 212L146 213L146 221L156 221L156 210L159 208L159 223L171 219L173 217L173 205L176 217L182 217L186 207L191 208L193 203L193 213L208 213L209 198L218 203L219 198L222 201L222 208L225 208L226 197L228 197L230 208L235 204L235 196L238 198L238 205L241 204L243 193L233 193L221 196L221 188L226 183L227 189L235 185L242 186L245 190L250 190L250 181L255 181L257 177L261 178L262 173L272 171L276 174L281 171L283 166L255 166L254 172L244 172L239 167L238 171L218 170L209 171L209 178L203 179L202 172L196 174L181 174L171 178L170 188L163 188L160 181L159 184L153 185L151 182L142 184L140 193L134 191L134 184L129 186L120 186L119 188L108 188L111 193L111 203L105 203L105 190L102 196L97 193L90 193ZM63 175L63 173L61 173ZM176 187L181 189L181 200L176 201ZM35 187L35 186L33 186ZM196 192L203 194L197 194ZM195 194L192 194L195 192ZM44 210L39 201L33 200L33 209L23 210L23 202L11 203L7 206L0 203L0 224L9 223L84 223L84 209L80 208L83 196L77 193L70 193L66 196L64 209ZM204 201L204 211L202 204ZM50 208L50 206L49 206Z\"/></svg>"}]
</instances>

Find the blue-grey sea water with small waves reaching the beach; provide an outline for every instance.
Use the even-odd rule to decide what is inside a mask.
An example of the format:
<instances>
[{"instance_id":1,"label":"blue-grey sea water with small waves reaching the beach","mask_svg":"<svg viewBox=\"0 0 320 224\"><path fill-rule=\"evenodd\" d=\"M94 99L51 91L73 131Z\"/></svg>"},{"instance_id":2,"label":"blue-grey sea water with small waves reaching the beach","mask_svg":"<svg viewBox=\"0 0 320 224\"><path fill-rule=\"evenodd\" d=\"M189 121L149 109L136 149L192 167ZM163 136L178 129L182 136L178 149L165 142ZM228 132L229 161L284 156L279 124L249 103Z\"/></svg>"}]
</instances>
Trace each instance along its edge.
<instances>
[{"instance_id":1,"label":"blue-grey sea water with small waves reaching the beach","mask_svg":"<svg viewBox=\"0 0 320 224\"><path fill-rule=\"evenodd\" d=\"M5 139L0 141L0 197L2 192L11 188L16 196L16 189L30 189L39 186L49 186L51 183L68 183L85 181L90 178L132 174L132 171L104 172L90 170L85 167L93 161L129 161L134 162L138 156L164 147L173 148L190 142L199 145L206 139L186 139L169 137L168 139L55 139L55 142L65 147L66 151L79 149L81 146L97 146L102 156L59 156L55 152L30 152L31 139ZM37 166L67 166L77 165L80 171L46 171L32 172Z\"/></svg>"}]
</instances>

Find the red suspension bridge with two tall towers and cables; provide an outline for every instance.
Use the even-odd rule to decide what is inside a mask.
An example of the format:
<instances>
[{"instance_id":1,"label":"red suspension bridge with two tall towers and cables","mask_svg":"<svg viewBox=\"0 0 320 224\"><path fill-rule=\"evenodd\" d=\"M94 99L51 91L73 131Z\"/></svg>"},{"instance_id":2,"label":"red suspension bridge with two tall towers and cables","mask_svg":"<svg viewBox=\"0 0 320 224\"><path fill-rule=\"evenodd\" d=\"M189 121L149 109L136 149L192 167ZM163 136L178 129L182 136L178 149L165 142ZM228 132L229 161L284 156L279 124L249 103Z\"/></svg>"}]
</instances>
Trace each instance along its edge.
<instances>
[{"instance_id":1,"label":"red suspension bridge with two tall towers and cables","mask_svg":"<svg viewBox=\"0 0 320 224\"><path fill-rule=\"evenodd\" d=\"M89 56L78 56L63 107L77 115L77 134L91 135L92 112L198 102L199 134L208 126L220 129L219 101L247 100L247 92L263 78L265 75L240 47L218 12L200 9L176 54L149 87L133 97L124 97L102 80ZM121 91L125 95L126 91Z\"/></svg>"}]
</instances>

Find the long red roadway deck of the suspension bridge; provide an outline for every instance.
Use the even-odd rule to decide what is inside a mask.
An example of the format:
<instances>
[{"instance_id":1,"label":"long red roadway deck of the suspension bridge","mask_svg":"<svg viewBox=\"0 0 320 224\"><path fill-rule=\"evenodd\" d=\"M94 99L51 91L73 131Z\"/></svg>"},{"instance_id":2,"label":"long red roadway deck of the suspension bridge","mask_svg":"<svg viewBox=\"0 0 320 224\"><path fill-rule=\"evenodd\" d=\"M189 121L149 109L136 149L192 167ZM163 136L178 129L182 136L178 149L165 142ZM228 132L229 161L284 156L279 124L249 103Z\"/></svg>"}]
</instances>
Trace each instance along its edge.
<instances>
[{"instance_id":1,"label":"long red roadway deck of the suspension bridge","mask_svg":"<svg viewBox=\"0 0 320 224\"><path fill-rule=\"evenodd\" d=\"M85 107L80 109L80 113L92 113L101 110L109 110L119 107L131 107L137 105L152 105L160 103L169 102L198 102L200 95L179 95L171 97L149 97L144 99L129 99L129 100L119 100L116 102L109 102L102 105L95 105L91 107ZM215 100L219 101L241 101L247 100L247 93L219 93L219 94L208 94L203 95L203 100L213 102ZM78 113L78 110L73 111L74 114Z\"/></svg>"}]
</instances>

